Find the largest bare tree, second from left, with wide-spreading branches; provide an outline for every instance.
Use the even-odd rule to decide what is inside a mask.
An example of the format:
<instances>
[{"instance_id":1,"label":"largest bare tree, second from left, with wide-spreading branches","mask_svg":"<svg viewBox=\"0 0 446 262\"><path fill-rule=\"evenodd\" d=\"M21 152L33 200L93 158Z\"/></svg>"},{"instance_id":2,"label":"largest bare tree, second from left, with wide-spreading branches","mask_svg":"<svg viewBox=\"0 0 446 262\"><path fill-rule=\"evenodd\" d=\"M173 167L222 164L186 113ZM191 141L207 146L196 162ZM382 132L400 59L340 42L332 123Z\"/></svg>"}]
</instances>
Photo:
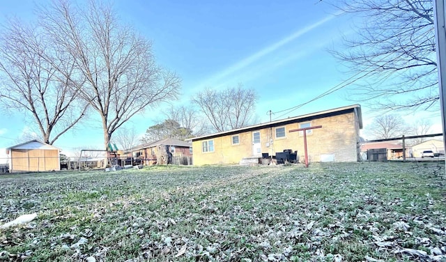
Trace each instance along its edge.
<instances>
[{"instance_id":1,"label":"largest bare tree, second from left, with wide-spreading branches","mask_svg":"<svg viewBox=\"0 0 446 262\"><path fill-rule=\"evenodd\" d=\"M72 84L98 112L104 144L132 116L166 100L175 99L180 79L155 63L151 43L116 18L111 6L89 1L82 8L70 1L54 1L40 8L47 35L70 56L77 76Z\"/></svg>"}]
</instances>

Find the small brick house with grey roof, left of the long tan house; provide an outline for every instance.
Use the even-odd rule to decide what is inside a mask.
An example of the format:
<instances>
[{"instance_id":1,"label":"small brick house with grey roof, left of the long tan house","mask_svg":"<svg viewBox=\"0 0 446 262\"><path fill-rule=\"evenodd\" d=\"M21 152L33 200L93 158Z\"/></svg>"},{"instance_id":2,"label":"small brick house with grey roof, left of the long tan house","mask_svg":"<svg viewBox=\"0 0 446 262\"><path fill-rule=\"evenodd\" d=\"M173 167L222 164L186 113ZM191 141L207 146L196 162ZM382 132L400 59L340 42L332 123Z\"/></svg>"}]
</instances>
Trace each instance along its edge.
<instances>
[{"instance_id":1,"label":"small brick house with grey roof, left of the long tan house","mask_svg":"<svg viewBox=\"0 0 446 262\"><path fill-rule=\"evenodd\" d=\"M192 159L192 144L173 138L161 139L155 142L134 146L127 151L143 161L143 164L150 165L157 162L158 146L168 146L173 157L189 157ZM129 155L130 156L130 155ZM192 162L192 160L190 160Z\"/></svg>"}]
</instances>

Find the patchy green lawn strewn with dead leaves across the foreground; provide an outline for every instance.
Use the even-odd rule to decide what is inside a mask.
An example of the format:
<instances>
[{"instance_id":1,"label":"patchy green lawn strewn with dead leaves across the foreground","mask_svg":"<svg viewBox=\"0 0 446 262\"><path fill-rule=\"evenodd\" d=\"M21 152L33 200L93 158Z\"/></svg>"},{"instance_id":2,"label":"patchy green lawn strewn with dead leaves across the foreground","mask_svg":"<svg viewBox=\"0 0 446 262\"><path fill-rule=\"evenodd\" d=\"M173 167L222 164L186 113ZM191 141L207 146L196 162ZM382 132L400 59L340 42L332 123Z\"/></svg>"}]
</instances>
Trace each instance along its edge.
<instances>
[{"instance_id":1,"label":"patchy green lawn strewn with dead leaves across the foreground","mask_svg":"<svg viewBox=\"0 0 446 262\"><path fill-rule=\"evenodd\" d=\"M445 261L444 166L0 176L0 261ZM3 250L3 251L2 251Z\"/></svg>"}]
</instances>

